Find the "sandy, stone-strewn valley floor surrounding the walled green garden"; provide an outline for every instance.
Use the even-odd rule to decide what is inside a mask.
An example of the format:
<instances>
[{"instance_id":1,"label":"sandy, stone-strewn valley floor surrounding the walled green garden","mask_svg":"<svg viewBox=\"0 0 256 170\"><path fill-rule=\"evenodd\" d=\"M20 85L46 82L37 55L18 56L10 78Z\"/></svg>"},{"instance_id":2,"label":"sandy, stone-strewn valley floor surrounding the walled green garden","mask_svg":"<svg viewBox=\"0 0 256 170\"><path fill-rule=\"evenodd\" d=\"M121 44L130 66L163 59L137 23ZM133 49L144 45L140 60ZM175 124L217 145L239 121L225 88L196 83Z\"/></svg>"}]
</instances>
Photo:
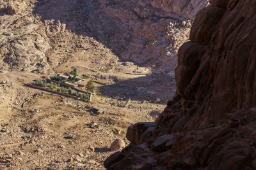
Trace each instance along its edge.
<instances>
[{"instance_id":1,"label":"sandy, stone-strewn valley floor surrounding the walled green garden","mask_svg":"<svg viewBox=\"0 0 256 170\"><path fill-rule=\"evenodd\" d=\"M128 145L127 127L154 121L174 94L172 78L168 82L161 74L79 74L101 83L95 83L91 103L24 85L42 74L12 71L1 75L12 82L0 85L1 169L104 169L104 160L114 153L111 143L123 139ZM131 103L124 108L134 89ZM154 103L157 97L160 103ZM104 108L104 113L95 114L95 106ZM91 122L99 127L90 128ZM67 139L68 134L75 137Z\"/></svg>"}]
</instances>

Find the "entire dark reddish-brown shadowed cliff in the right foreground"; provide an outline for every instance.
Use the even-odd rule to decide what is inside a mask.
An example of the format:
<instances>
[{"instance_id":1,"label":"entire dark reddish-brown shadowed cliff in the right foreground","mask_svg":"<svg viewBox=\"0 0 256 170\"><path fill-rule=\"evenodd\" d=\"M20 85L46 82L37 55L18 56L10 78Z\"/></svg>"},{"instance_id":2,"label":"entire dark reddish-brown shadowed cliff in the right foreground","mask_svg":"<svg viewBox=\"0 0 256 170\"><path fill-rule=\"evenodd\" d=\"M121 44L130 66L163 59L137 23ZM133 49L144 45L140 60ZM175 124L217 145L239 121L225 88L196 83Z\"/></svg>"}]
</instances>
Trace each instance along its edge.
<instances>
[{"instance_id":1,"label":"entire dark reddish-brown shadowed cliff in the right foreground","mask_svg":"<svg viewBox=\"0 0 256 170\"><path fill-rule=\"evenodd\" d=\"M177 96L156 123L129 127L109 169L256 169L253 0L211 0L179 49Z\"/></svg>"}]
</instances>

